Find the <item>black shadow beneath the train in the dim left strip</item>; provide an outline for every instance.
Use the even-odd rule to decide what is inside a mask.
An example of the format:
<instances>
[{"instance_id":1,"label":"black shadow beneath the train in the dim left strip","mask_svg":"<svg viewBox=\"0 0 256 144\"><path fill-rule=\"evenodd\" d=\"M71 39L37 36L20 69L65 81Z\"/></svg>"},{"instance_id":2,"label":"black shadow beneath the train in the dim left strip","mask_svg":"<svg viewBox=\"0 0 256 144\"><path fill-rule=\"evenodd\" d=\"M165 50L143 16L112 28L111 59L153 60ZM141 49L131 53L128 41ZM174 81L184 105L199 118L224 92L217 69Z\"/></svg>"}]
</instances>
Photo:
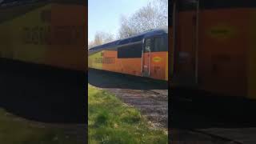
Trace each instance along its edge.
<instances>
[{"instance_id":1,"label":"black shadow beneath the train in the dim left strip","mask_svg":"<svg viewBox=\"0 0 256 144\"><path fill-rule=\"evenodd\" d=\"M39 122L86 122L86 74L1 61L0 107Z\"/></svg>"}]
</instances>

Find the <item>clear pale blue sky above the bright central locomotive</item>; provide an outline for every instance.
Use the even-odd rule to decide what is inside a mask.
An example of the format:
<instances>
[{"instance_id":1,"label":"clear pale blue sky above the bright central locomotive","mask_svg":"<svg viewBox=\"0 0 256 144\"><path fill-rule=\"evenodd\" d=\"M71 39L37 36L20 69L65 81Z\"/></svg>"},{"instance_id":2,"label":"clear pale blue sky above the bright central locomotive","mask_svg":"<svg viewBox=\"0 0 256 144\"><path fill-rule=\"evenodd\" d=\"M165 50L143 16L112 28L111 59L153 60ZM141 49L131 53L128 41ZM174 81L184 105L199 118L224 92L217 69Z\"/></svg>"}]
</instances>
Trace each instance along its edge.
<instances>
[{"instance_id":1,"label":"clear pale blue sky above the bright central locomotive","mask_svg":"<svg viewBox=\"0 0 256 144\"><path fill-rule=\"evenodd\" d=\"M146 6L150 0L89 0L88 40L94 40L98 31L118 34L121 15L131 15Z\"/></svg>"}]
</instances>

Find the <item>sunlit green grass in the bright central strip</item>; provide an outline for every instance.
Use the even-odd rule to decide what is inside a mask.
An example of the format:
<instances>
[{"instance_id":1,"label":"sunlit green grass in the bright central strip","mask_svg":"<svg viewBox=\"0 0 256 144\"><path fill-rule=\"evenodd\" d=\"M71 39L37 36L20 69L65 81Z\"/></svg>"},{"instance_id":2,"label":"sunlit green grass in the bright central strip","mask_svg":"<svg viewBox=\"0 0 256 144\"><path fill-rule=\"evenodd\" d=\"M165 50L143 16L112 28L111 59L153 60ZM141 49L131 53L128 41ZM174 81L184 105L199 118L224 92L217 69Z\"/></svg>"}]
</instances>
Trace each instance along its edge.
<instances>
[{"instance_id":1,"label":"sunlit green grass in the bright central strip","mask_svg":"<svg viewBox=\"0 0 256 144\"><path fill-rule=\"evenodd\" d=\"M89 143L167 143L165 130L153 129L133 107L113 94L88 85Z\"/></svg>"}]
</instances>

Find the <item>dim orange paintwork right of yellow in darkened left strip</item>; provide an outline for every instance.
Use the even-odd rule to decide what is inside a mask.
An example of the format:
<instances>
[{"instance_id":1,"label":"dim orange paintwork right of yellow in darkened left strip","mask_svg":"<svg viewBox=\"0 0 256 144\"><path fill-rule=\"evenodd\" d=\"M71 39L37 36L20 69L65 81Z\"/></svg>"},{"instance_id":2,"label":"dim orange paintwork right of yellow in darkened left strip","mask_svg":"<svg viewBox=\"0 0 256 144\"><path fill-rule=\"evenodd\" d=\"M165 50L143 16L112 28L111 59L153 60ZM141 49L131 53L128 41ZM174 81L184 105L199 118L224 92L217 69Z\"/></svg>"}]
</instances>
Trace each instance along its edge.
<instances>
[{"instance_id":1,"label":"dim orange paintwork right of yellow in darkened left strip","mask_svg":"<svg viewBox=\"0 0 256 144\"><path fill-rule=\"evenodd\" d=\"M72 11L72 12L70 12ZM86 25L87 25L86 6L53 4L51 8L51 29L57 31L63 26L63 34L54 34L51 38L58 44L50 45L47 52L47 63L53 66L60 66L72 70L86 70ZM86 18L86 19L83 19ZM74 26L74 28L69 28ZM74 32L75 31L75 32ZM78 34L77 38L70 40L70 35ZM68 45L65 41L71 41Z\"/></svg>"}]
</instances>

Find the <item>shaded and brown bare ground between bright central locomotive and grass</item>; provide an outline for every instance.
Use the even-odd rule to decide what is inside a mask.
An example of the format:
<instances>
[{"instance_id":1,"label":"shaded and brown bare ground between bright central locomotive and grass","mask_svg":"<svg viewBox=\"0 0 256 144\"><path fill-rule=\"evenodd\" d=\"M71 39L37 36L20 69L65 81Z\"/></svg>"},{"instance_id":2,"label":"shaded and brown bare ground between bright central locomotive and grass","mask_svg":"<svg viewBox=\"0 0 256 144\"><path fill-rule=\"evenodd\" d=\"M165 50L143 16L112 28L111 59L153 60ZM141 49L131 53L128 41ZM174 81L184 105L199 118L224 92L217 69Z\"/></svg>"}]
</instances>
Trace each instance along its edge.
<instances>
[{"instance_id":1,"label":"shaded and brown bare ground between bright central locomotive and grass","mask_svg":"<svg viewBox=\"0 0 256 144\"><path fill-rule=\"evenodd\" d=\"M126 104L138 108L155 128L167 129L167 82L154 82L150 79L99 70L89 70L88 82L92 86L110 91Z\"/></svg>"}]
</instances>

